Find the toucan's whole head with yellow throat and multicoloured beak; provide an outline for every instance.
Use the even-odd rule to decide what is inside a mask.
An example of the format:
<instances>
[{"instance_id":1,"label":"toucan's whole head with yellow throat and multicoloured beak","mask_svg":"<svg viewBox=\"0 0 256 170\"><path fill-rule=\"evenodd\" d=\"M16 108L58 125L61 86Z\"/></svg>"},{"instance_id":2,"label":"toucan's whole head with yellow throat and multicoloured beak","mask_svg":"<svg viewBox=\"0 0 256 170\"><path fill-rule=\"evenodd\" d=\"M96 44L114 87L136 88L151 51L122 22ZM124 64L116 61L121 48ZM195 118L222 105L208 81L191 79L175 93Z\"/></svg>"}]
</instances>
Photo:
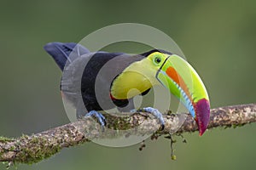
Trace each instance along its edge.
<instances>
[{"instance_id":1,"label":"toucan's whole head with yellow throat and multicoloured beak","mask_svg":"<svg viewBox=\"0 0 256 170\"><path fill-rule=\"evenodd\" d=\"M113 82L111 94L116 99L127 99L156 84L162 84L183 103L195 118L202 135L207 129L210 117L207 89L194 68L177 54L155 51L132 63ZM122 90L116 90L117 88ZM131 88L136 88L137 91L127 97L126 94Z\"/></svg>"}]
</instances>

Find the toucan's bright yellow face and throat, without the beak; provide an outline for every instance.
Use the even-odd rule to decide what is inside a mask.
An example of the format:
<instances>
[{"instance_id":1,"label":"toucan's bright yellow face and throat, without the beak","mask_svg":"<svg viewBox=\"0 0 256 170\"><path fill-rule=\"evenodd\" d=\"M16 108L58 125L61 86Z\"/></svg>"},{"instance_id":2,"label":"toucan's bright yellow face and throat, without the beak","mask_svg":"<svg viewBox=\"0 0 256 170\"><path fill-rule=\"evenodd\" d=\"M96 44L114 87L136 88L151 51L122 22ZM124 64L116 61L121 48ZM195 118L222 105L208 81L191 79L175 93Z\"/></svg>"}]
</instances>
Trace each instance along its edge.
<instances>
[{"instance_id":1,"label":"toucan's bright yellow face and throat, without the beak","mask_svg":"<svg viewBox=\"0 0 256 170\"><path fill-rule=\"evenodd\" d=\"M156 84L157 71L165 62L167 54L154 52L147 58L134 62L117 77L111 87L111 95L115 99L130 99L142 94Z\"/></svg>"}]
</instances>

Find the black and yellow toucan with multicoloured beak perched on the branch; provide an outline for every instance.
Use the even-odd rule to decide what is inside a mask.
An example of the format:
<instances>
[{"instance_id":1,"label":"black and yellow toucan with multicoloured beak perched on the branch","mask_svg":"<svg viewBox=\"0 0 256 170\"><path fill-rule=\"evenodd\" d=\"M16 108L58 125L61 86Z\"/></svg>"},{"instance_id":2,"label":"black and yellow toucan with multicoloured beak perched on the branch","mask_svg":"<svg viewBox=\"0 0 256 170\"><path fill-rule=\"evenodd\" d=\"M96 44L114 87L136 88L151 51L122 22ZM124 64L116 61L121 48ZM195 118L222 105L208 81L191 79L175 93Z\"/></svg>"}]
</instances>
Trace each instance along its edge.
<instances>
[{"instance_id":1,"label":"black and yellow toucan with multicoloured beak perched on the branch","mask_svg":"<svg viewBox=\"0 0 256 170\"><path fill-rule=\"evenodd\" d=\"M200 136L205 133L210 117L207 89L194 68L177 54L161 49L143 54L90 52L75 42L49 42L44 49L63 71L61 92L75 105L78 117L96 116L104 127L105 117L99 111L132 110L135 96L163 85L195 118ZM160 111L150 106L143 111L157 117L164 128Z\"/></svg>"}]
</instances>

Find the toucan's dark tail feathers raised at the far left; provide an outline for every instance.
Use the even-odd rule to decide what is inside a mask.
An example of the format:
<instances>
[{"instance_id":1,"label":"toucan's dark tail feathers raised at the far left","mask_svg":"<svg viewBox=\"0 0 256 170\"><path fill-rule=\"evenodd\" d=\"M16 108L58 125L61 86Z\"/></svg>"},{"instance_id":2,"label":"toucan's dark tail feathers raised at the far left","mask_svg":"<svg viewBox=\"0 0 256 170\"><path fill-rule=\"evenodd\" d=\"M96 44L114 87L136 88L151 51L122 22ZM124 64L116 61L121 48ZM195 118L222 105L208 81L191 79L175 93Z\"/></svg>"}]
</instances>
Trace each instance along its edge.
<instances>
[{"instance_id":1,"label":"toucan's dark tail feathers raised at the far left","mask_svg":"<svg viewBox=\"0 0 256 170\"><path fill-rule=\"evenodd\" d=\"M74 42L49 42L44 46L44 50L55 59L55 62L59 65L61 71L64 70L67 61L70 63L72 62L72 59L69 56L72 52L74 58L90 53L87 48Z\"/></svg>"}]
</instances>

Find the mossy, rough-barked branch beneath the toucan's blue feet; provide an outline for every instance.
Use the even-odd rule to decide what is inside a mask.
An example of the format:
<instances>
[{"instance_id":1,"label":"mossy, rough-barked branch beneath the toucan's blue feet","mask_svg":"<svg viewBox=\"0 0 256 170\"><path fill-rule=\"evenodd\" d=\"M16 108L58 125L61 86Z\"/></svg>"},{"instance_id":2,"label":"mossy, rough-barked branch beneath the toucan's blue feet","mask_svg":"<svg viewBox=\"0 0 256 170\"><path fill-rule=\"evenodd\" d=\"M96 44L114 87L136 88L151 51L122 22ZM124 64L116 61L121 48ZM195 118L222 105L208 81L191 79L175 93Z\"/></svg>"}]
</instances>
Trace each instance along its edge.
<instances>
[{"instance_id":1,"label":"mossy, rough-barked branch beneath the toucan's blue feet","mask_svg":"<svg viewBox=\"0 0 256 170\"><path fill-rule=\"evenodd\" d=\"M160 127L156 119L148 116L147 113L121 117L109 114L105 116L108 126L104 131L89 117L31 136L23 135L17 139L2 137L0 138L0 161L30 164L44 160L62 148L89 142L92 139L152 134ZM182 120L183 114L165 114L164 118L166 127L163 131L158 131L159 134L169 134L177 127L176 133L198 130L194 119L189 115L185 122ZM225 106L211 110L208 128L240 126L250 122L256 122L256 104Z\"/></svg>"}]
</instances>

